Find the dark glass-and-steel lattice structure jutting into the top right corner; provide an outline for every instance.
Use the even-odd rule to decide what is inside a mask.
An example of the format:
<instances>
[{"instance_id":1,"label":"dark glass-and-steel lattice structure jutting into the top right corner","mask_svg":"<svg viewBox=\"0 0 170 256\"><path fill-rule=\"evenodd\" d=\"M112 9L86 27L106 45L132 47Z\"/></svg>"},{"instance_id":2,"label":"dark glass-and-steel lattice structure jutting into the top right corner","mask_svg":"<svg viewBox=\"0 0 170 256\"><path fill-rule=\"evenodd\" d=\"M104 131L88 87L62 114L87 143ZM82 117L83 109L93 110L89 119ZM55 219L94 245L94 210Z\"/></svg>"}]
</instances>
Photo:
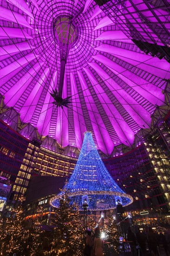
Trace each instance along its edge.
<instances>
[{"instance_id":1,"label":"dark glass-and-steel lattice structure jutting into the top right corner","mask_svg":"<svg viewBox=\"0 0 170 256\"><path fill-rule=\"evenodd\" d=\"M137 47L170 62L170 6L167 0L95 2Z\"/></svg>"}]
</instances>

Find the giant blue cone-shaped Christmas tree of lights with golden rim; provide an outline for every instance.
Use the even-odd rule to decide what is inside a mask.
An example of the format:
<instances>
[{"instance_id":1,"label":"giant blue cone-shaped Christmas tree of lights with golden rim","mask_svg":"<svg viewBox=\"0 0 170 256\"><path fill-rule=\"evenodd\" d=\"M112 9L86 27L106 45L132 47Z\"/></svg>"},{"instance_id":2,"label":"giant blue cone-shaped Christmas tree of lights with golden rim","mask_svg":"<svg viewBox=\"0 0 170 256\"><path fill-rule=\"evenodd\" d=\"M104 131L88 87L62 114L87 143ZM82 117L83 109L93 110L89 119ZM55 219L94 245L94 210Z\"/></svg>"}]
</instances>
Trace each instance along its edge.
<instances>
[{"instance_id":1,"label":"giant blue cone-shaped Christmas tree of lights with golden rim","mask_svg":"<svg viewBox=\"0 0 170 256\"><path fill-rule=\"evenodd\" d=\"M68 190L71 204L77 203L80 210L85 203L88 209L104 210L133 202L132 197L118 187L105 168L89 131L85 132L78 162L65 189ZM62 195L63 192L52 198L52 206L59 206Z\"/></svg>"}]
</instances>

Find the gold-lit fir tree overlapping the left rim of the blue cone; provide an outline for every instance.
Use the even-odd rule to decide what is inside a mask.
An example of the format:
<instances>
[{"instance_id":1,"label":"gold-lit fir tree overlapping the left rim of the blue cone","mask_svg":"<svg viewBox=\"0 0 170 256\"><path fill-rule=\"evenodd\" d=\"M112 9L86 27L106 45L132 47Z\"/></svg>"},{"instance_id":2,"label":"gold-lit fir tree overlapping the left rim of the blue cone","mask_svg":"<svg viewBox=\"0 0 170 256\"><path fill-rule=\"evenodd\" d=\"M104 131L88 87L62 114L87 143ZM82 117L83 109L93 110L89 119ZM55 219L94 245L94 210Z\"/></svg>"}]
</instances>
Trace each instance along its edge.
<instances>
[{"instance_id":1,"label":"gold-lit fir tree overlapping the left rim of the blue cone","mask_svg":"<svg viewBox=\"0 0 170 256\"><path fill-rule=\"evenodd\" d=\"M84 226L83 218L79 214L78 206L70 205L68 191L63 190L63 196L59 201L59 207L55 213L55 228L50 255L73 256L83 255Z\"/></svg>"}]
</instances>

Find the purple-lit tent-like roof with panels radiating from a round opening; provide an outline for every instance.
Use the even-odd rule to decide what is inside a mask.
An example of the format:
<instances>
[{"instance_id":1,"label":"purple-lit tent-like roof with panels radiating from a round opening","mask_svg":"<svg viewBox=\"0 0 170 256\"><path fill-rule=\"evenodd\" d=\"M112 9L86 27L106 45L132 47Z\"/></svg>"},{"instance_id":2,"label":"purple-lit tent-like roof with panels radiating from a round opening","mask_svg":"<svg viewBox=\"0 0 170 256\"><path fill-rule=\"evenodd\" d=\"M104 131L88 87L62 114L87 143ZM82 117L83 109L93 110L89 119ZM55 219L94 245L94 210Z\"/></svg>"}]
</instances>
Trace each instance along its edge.
<instances>
[{"instance_id":1,"label":"purple-lit tent-like roof with panels radiating from a round opening","mask_svg":"<svg viewBox=\"0 0 170 256\"><path fill-rule=\"evenodd\" d=\"M170 19L166 6L149 1L148 7L148 1L138 0L134 11L131 1L124 2L126 9L117 5L119 19L114 20L93 0L1 0L0 93L5 108L13 107L23 125L31 123L62 148L81 148L86 130L92 131L96 148L106 155L119 144L132 147L135 134L150 128L156 106L165 104L162 92L170 63L140 50L123 28L124 20L131 11L128 22L149 43L152 38L162 46L158 20L159 30L164 26L169 31ZM155 22L153 30L146 19ZM60 108L50 93L59 89L59 40L67 39L65 33L73 39L69 38L62 98L70 97L71 102ZM168 39L164 41L169 47Z\"/></svg>"}]
</instances>

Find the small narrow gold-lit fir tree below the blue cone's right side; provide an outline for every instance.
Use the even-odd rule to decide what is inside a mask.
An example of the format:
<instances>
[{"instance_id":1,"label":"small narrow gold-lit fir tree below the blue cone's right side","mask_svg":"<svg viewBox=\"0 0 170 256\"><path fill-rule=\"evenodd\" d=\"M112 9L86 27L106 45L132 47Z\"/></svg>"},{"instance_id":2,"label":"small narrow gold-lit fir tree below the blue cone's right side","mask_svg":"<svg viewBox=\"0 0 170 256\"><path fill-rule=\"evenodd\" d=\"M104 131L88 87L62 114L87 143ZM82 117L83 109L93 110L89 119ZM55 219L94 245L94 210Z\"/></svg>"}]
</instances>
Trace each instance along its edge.
<instances>
[{"instance_id":1,"label":"small narrow gold-lit fir tree below the blue cone's right side","mask_svg":"<svg viewBox=\"0 0 170 256\"><path fill-rule=\"evenodd\" d=\"M108 215L108 227L107 227L108 241L110 242L110 247L114 249L114 252L118 252L119 248L119 237L120 232L118 232L118 227L116 225L116 220L113 219L113 211L110 211Z\"/></svg>"}]
</instances>

